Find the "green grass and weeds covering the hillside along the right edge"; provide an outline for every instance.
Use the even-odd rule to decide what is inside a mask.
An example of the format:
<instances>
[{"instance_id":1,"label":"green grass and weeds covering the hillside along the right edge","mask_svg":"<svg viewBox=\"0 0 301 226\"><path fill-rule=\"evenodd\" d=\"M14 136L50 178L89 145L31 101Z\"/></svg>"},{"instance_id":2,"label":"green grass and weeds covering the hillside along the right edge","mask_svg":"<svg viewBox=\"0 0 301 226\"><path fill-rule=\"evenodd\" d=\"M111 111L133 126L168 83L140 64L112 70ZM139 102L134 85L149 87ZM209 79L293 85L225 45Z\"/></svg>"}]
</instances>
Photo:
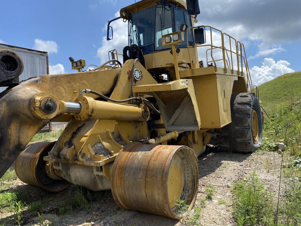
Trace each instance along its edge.
<instances>
[{"instance_id":1,"label":"green grass and weeds covering the hillside along the right edge","mask_svg":"<svg viewBox=\"0 0 301 226\"><path fill-rule=\"evenodd\" d=\"M264 122L265 139L255 155L276 152L278 142L285 143L286 147L278 212L278 189L277 193L271 194L253 174L246 181L234 183L234 217L239 226L301 225L301 169L298 165L301 161L301 72L285 74L262 84L259 99L268 111L271 123ZM263 162L267 173L272 173L271 161L265 159Z\"/></svg>"}]
</instances>

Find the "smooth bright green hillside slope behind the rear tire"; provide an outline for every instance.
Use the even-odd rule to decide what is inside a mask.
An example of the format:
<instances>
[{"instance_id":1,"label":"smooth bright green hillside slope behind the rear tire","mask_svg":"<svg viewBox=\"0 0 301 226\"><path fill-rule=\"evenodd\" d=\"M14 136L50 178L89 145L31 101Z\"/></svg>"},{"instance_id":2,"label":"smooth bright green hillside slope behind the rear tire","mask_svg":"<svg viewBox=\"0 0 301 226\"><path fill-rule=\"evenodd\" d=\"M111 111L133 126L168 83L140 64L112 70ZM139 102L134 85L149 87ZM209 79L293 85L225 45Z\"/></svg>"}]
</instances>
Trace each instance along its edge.
<instances>
[{"instance_id":1,"label":"smooth bright green hillside slope behind the rear tire","mask_svg":"<svg viewBox=\"0 0 301 226\"><path fill-rule=\"evenodd\" d=\"M259 86L262 105L281 103L301 96L301 72L281 75Z\"/></svg>"}]
</instances>

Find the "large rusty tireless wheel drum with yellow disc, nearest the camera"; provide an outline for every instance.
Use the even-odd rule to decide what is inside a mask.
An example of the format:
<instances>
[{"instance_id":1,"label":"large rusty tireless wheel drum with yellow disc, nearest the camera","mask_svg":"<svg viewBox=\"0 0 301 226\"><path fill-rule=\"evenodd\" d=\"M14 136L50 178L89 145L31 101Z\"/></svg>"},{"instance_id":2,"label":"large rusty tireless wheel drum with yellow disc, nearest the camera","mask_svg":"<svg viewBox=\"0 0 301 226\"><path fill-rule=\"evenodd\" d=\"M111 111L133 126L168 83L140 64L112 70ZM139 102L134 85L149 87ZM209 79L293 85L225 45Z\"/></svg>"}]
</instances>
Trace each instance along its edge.
<instances>
[{"instance_id":1,"label":"large rusty tireless wheel drum with yellow disc, nearest the camera","mask_svg":"<svg viewBox=\"0 0 301 226\"><path fill-rule=\"evenodd\" d=\"M197 157L187 146L130 143L114 162L111 188L122 209L181 219L175 202L195 203Z\"/></svg>"}]
</instances>

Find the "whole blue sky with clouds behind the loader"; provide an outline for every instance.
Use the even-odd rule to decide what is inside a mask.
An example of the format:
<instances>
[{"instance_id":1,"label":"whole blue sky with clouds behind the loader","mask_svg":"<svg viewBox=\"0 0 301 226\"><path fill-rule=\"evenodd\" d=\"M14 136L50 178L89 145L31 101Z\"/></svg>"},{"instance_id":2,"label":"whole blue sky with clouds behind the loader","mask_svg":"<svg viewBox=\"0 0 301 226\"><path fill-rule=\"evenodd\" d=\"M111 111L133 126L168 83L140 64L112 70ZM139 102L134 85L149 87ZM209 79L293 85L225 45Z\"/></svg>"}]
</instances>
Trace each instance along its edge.
<instances>
[{"instance_id":1,"label":"whole blue sky with clouds behind the loader","mask_svg":"<svg viewBox=\"0 0 301 226\"><path fill-rule=\"evenodd\" d=\"M110 42L104 40L105 27L120 8L134 2L2 1L0 43L48 51L52 73L72 72L70 56L98 65L107 59L108 50L121 52L127 45L126 23L113 24ZM300 8L299 0L200 0L198 24L245 42L251 75L260 84L301 70Z\"/></svg>"}]
</instances>

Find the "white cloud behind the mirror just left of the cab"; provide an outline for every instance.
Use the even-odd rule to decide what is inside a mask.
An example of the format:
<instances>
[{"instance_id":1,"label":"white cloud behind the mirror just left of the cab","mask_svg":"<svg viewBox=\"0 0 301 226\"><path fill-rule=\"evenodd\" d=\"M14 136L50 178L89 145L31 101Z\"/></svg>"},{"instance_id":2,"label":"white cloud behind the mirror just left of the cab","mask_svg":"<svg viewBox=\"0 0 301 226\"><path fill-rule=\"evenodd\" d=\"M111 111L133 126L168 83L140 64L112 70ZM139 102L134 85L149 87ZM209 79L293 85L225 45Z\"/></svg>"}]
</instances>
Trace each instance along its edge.
<instances>
[{"instance_id":1,"label":"white cloud behind the mirror just left of the cab","mask_svg":"<svg viewBox=\"0 0 301 226\"><path fill-rule=\"evenodd\" d=\"M115 17L119 17L119 11ZM108 61L108 52L117 49L118 53L123 52L123 48L128 45L128 25L122 19L112 22L113 40L107 41L107 36L102 38L101 47L97 49L97 56L101 59L101 63ZM105 26L107 30L107 25ZM121 58L121 59L120 59ZM122 63L122 57L118 56L118 60Z\"/></svg>"}]
</instances>

